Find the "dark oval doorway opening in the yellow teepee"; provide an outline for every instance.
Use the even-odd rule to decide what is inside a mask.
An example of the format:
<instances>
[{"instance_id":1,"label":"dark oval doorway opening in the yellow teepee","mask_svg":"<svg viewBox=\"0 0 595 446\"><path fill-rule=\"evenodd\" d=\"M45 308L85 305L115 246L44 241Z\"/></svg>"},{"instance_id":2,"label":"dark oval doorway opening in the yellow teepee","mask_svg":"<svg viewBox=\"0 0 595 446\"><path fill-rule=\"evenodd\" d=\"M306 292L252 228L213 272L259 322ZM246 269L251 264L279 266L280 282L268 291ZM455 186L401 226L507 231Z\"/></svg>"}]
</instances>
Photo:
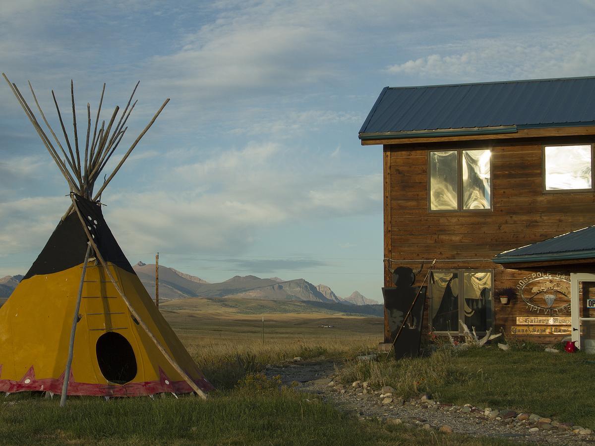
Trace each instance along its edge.
<instances>
[{"instance_id":1,"label":"dark oval doorway opening in the yellow teepee","mask_svg":"<svg viewBox=\"0 0 595 446\"><path fill-rule=\"evenodd\" d=\"M96 344L97 362L105 379L115 384L126 384L136 376L134 350L123 335L108 331Z\"/></svg>"}]
</instances>

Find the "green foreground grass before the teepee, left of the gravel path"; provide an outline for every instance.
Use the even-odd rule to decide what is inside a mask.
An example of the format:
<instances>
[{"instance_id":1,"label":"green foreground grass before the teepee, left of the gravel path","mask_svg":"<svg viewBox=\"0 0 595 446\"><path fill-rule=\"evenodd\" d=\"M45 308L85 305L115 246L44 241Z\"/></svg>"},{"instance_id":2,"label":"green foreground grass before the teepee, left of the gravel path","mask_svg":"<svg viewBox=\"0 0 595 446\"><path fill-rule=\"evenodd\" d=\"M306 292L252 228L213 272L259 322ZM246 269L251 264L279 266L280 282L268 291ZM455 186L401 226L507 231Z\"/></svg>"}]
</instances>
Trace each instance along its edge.
<instances>
[{"instance_id":1,"label":"green foreground grass before the teepee, left of the gravel path","mask_svg":"<svg viewBox=\"0 0 595 446\"><path fill-rule=\"evenodd\" d=\"M7 404L6 401L8 400ZM361 422L317 397L249 376L199 398L57 398L11 395L0 408L0 444L505 445L504 440Z\"/></svg>"}]
</instances>

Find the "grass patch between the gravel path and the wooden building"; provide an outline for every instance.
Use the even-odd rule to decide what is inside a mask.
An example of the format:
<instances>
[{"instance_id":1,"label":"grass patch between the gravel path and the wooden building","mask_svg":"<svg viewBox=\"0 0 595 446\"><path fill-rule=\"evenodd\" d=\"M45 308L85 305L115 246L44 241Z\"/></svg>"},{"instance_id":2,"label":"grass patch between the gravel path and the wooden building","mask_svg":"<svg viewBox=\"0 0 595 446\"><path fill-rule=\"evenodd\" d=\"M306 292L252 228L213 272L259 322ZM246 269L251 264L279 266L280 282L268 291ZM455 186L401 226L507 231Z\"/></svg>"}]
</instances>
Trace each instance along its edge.
<instances>
[{"instance_id":1,"label":"grass patch between the gravel path and the wooden building","mask_svg":"<svg viewBox=\"0 0 595 446\"><path fill-rule=\"evenodd\" d=\"M513 409L595 428L595 364L585 354L502 351L494 346L400 361L350 362L339 370L344 382L390 385L405 397L427 393L443 403Z\"/></svg>"}]
</instances>

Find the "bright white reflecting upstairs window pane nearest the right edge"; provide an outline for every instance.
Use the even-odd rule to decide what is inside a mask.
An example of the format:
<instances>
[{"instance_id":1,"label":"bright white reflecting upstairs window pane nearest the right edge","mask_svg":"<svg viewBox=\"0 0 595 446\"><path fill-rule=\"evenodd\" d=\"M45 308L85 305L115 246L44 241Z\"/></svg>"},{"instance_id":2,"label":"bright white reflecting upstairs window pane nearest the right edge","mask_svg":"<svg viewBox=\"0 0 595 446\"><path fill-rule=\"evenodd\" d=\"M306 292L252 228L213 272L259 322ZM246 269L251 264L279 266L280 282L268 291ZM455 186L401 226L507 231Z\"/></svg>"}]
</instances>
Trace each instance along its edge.
<instances>
[{"instance_id":1,"label":"bright white reflecting upstairs window pane nearest the right edge","mask_svg":"<svg viewBox=\"0 0 595 446\"><path fill-rule=\"evenodd\" d=\"M591 189L591 146L546 146L546 190Z\"/></svg>"}]
</instances>

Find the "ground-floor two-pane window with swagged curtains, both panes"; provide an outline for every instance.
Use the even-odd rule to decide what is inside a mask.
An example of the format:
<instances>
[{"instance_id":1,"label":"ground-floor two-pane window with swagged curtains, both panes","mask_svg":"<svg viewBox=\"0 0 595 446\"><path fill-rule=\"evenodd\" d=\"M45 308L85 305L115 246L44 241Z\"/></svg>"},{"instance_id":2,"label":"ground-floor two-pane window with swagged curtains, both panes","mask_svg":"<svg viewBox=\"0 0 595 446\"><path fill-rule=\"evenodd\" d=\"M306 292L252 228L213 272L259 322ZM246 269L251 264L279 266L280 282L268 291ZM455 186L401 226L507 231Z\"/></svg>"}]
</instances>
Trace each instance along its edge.
<instances>
[{"instance_id":1,"label":"ground-floor two-pane window with swagged curtains, both panes","mask_svg":"<svg viewBox=\"0 0 595 446\"><path fill-rule=\"evenodd\" d=\"M493 328L493 274L491 271L433 271L430 278L431 329L462 332L459 321L469 330Z\"/></svg>"}]
</instances>

